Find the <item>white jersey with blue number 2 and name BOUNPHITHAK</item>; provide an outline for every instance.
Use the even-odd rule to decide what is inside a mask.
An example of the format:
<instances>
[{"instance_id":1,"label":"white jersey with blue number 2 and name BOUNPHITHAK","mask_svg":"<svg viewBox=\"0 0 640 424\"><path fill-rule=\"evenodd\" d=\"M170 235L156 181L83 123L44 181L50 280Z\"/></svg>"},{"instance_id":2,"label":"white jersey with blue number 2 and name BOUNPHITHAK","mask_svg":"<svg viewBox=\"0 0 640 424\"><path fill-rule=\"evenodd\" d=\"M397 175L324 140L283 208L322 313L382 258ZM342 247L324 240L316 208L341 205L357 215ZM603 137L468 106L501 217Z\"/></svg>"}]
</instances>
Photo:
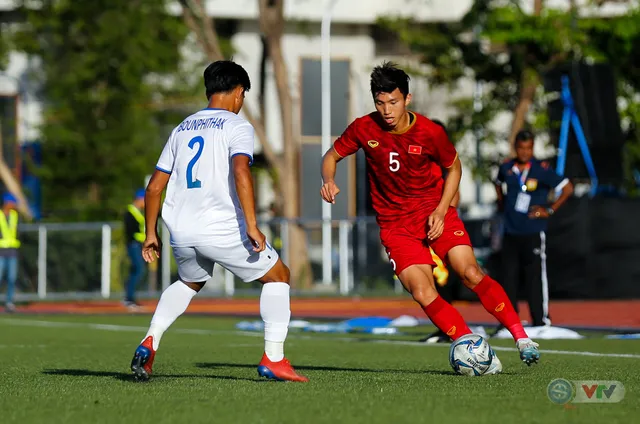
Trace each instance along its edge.
<instances>
[{"instance_id":1,"label":"white jersey with blue number 2 and name BOUNPHITHAK","mask_svg":"<svg viewBox=\"0 0 640 424\"><path fill-rule=\"evenodd\" d=\"M253 143L251 124L223 109L201 110L173 130L156 165L171 174L162 219L172 246L224 244L244 232L231 158L253 162Z\"/></svg>"}]
</instances>

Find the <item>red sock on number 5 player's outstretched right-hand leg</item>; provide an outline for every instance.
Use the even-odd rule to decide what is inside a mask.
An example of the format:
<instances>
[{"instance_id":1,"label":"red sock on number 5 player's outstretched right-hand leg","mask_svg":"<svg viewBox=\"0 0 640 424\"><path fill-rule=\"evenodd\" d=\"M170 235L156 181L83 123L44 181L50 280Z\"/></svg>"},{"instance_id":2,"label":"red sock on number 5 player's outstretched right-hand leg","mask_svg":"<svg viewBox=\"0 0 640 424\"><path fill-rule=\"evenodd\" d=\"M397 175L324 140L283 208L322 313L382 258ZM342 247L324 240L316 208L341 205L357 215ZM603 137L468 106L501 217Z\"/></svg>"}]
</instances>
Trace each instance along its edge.
<instances>
[{"instance_id":1,"label":"red sock on number 5 player's outstretched right-hand leg","mask_svg":"<svg viewBox=\"0 0 640 424\"><path fill-rule=\"evenodd\" d=\"M478 295L487 312L496 317L509 330L515 341L529 337L524 331L520 317L513 309L507 293L496 280L485 275L473 291Z\"/></svg>"}]
</instances>

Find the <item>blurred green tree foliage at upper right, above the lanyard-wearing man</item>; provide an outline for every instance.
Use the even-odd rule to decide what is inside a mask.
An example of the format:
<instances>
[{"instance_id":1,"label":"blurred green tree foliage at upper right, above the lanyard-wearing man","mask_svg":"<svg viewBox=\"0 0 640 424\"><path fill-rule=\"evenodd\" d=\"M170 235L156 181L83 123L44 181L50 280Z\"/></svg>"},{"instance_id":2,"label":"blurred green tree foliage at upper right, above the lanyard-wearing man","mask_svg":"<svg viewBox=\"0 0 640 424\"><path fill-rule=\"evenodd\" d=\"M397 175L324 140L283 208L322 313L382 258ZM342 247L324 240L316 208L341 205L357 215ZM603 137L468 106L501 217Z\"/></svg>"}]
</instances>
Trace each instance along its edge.
<instances>
[{"instance_id":1,"label":"blurred green tree foliage at upper right, above the lanyard-wearing man","mask_svg":"<svg viewBox=\"0 0 640 424\"><path fill-rule=\"evenodd\" d=\"M428 65L422 75L431 85L454 88L469 77L485 82L482 111L474 110L472 99L454 100L457 113L448 122L453 138L481 127L484 141L504 137L511 145L527 121L548 128L546 105L536 94L542 92L542 74L562 62L610 62L627 89L620 94L637 103L640 13L637 2L623 2L632 6L629 12L606 19L581 17L580 7L586 6L573 1L558 10L536 0L533 13L527 13L516 0L475 0L459 22L425 25L384 18L380 24ZM509 133L496 134L489 123L504 111L513 111ZM474 171L486 170L479 168Z\"/></svg>"}]
</instances>

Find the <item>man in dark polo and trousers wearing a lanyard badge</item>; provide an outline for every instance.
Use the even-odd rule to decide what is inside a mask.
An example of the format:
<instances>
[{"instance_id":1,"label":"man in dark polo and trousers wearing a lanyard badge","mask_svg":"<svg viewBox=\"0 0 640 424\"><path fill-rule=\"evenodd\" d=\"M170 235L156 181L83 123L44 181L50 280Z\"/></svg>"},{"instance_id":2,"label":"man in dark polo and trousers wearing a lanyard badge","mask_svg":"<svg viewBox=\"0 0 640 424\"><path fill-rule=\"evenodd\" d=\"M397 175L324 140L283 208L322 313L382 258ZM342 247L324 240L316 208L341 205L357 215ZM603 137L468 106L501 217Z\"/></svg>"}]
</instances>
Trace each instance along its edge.
<instances>
[{"instance_id":1,"label":"man in dark polo and trousers wearing a lanyard badge","mask_svg":"<svg viewBox=\"0 0 640 424\"><path fill-rule=\"evenodd\" d=\"M524 277L533 326L551 325L546 271L547 222L573 193L567 178L533 156L534 136L520 131L515 139L516 158L498 170L498 210L504 213L502 284L518 310L518 287ZM506 191L504 191L506 188ZM561 191L549 203L549 195Z\"/></svg>"}]
</instances>

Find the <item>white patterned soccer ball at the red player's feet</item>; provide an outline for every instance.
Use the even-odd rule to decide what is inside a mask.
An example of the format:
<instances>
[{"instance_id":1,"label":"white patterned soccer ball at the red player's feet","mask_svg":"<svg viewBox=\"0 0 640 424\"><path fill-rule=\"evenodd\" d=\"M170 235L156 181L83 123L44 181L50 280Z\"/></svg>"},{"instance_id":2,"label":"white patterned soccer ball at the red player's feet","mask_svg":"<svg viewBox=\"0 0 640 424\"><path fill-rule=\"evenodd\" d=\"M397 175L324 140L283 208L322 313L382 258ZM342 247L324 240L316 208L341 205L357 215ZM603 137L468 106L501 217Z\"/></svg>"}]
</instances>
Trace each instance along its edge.
<instances>
[{"instance_id":1,"label":"white patterned soccer ball at the red player's feet","mask_svg":"<svg viewBox=\"0 0 640 424\"><path fill-rule=\"evenodd\" d=\"M456 374L482 375L491 366L493 350L489 343L477 334L467 334L451 343L449 363Z\"/></svg>"}]
</instances>

